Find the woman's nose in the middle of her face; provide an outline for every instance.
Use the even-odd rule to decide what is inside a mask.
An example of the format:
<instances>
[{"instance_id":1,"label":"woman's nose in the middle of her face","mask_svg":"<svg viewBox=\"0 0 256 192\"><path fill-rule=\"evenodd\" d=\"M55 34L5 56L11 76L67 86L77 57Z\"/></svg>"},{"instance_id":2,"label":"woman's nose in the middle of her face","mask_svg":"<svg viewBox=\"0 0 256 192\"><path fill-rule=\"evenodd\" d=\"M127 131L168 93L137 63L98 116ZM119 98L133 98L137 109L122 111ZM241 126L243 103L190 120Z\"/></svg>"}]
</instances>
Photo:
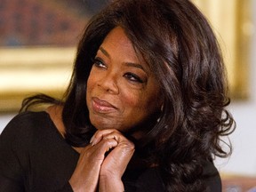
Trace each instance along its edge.
<instances>
[{"instance_id":1,"label":"woman's nose in the middle of her face","mask_svg":"<svg viewBox=\"0 0 256 192\"><path fill-rule=\"evenodd\" d=\"M103 89L106 92L112 93L112 94L118 94L119 88L118 88L118 74L116 74L113 71L106 71L104 74L100 74L101 78L98 82L98 86L100 86L101 89Z\"/></svg>"}]
</instances>

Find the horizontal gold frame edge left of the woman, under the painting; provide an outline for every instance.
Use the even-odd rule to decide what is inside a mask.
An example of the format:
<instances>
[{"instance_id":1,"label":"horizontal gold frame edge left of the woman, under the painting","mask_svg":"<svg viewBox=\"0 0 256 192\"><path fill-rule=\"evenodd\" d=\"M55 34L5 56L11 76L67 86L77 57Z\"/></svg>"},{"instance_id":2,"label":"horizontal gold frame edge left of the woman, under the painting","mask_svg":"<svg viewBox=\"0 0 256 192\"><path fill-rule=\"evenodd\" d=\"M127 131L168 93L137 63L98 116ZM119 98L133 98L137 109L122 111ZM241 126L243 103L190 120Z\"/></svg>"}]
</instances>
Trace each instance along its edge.
<instances>
[{"instance_id":1,"label":"horizontal gold frame edge left of the woman, under the painting","mask_svg":"<svg viewBox=\"0 0 256 192\"><path fill-rule=\"evenodd\" d=\"M61 97L75 54L75 47L0 49L0 112L17 112L25 97L39 92Z\"/></svg>"}]
</instances>

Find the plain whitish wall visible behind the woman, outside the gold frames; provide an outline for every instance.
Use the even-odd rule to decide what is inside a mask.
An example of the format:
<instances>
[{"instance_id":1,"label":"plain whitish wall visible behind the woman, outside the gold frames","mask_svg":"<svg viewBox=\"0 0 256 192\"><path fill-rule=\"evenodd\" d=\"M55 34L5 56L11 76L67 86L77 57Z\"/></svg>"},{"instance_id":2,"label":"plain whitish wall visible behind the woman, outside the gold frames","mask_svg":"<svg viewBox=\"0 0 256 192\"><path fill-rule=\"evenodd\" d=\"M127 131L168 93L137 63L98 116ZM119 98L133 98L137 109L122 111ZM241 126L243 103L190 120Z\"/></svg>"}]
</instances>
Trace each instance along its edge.
<instances>
[{"instance_id":1,"label":"plain whitish wall visible behind the woman, outside the gold frames","mask_svg":"<svg viewBox=\"0 0 256 192\"><path fill-rule=\"evenodd\" d=\"M228 159L217 158L215 164L220 172L247 174L256 176L256 1L253 4L254 35L252 36L252 60L250 63L249 100L233 101L229 110L236 119L236 131L230 136L234 151ZM14 114L0 115L0 132Z\"/></svg>"}]
</instances>

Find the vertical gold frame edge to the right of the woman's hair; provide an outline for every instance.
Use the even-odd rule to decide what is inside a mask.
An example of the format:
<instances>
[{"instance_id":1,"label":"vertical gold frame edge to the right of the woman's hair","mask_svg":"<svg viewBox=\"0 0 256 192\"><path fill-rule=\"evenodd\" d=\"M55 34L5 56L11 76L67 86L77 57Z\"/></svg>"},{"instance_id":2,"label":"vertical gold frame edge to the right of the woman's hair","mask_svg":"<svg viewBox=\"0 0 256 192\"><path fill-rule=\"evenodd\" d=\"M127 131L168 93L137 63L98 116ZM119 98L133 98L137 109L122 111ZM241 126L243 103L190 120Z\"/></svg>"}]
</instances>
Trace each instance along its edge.
<instances>
[{"instance_id":1,"label":"vertical gold frame edge to the right of the woman's hair","mask_svg":"<svg viewBox=\"0 0 256 192\"><path fill-rule=\"evenodd\" d=\"M204 12L217 35L228 69L230 97L248 99L250 40L252 39L251 0L192 0Z\"/></svg>"}]
</instances>

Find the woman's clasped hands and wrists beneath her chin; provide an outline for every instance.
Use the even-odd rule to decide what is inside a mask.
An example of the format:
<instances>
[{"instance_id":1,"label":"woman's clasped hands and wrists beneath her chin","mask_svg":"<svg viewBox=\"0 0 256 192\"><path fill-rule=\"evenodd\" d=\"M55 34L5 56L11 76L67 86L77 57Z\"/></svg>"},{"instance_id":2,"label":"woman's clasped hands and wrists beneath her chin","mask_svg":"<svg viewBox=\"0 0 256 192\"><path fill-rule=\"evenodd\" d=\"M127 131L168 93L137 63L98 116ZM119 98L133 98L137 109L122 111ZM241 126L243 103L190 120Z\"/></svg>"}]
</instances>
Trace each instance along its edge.
<instances>
[{"instance_id":1,"label":"woman's clasped hands and wrists beneath her chin","mask_svg":"<svg viewBox=\"0 0 256 192\"><path fill-rule=\"evenodd\" d=\"M75 192L124 191L121 178L134 150L132 141L117 130L95 132L90 145L81 150L75 172L69 180L71 187Z\"/></svg>"}]
</instances>

